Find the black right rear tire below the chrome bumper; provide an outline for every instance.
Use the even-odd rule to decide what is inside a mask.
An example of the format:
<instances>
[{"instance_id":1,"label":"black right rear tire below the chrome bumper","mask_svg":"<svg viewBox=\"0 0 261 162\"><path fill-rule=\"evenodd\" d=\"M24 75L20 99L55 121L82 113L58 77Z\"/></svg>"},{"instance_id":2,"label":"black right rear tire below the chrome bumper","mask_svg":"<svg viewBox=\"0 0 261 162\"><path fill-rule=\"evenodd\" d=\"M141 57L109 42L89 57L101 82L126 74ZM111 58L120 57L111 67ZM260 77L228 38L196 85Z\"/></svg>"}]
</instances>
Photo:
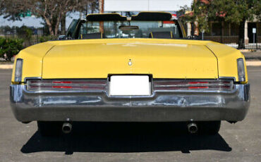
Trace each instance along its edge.
<instances>
[{"instance_id":1,"label":"black right rear tire below the chrome bumper","mask_svg":"<svg viewBox=\"0 0 261 162\"><path fill-rule=\"evenodd\" d=\"M221 121L207 121L198 123L198 131L201 135L217 135Z\"/></svg>"}]
</instances>

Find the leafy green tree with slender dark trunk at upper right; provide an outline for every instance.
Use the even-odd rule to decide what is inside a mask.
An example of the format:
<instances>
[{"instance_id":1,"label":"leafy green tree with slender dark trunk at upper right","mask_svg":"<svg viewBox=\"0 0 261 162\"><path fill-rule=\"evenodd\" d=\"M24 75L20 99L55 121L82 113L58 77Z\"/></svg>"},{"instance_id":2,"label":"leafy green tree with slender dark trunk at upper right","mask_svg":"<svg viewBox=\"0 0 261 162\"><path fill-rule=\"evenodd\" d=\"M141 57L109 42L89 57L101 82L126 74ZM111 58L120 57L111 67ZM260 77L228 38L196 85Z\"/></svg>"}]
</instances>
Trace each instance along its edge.
<instances>
[{"instance_id":1,"label":"leafy green tree with slender dark trunk at upper right","mask_svg":"<svg viewBox=\"0 0 261 162\"><path fill-rule=\"evenodd\" d=\"M226 21L239 26L238 49L245 48L245 21L260 19L260 0L198 0L191 6L191 13L182 16L185 21L198 21L200 32L208 31L211 21Z\"/></svg>"}]
</instances>

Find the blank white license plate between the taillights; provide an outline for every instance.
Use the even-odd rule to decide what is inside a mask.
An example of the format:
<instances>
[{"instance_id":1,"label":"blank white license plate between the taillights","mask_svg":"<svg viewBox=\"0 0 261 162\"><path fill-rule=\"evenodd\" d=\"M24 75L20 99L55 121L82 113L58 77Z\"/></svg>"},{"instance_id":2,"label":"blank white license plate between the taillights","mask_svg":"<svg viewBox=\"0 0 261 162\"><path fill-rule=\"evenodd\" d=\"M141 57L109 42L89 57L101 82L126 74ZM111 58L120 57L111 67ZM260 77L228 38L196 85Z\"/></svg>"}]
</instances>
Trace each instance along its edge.
<instances>
[{"instance_id":1,"label":"blank white license plate between the taillights","mask_svg":"<svg viewBox=\"0 0 261 162\"><path fill-rule=\"evenodd\" d=\"M147 75L112 75L109 82L111 96L149 96L150 78Z\"/></svg>"}]
</instances>

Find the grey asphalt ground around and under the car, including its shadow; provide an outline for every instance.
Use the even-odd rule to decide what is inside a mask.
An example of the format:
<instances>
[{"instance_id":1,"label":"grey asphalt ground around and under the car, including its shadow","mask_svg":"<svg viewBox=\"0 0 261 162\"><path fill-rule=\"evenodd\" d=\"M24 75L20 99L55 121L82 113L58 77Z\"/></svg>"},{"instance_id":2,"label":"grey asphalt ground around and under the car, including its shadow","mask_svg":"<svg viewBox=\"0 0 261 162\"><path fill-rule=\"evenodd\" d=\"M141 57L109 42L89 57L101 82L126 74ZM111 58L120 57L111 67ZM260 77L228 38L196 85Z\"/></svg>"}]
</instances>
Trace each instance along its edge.
<instances>
[{"instance_id":1,"label":"grey asphalt ground around and under the car, including its shadow","mask_svg":"<svg viewBox=\"0 0 261 162\"><path fill-rule=\"evenodd\" d=\"M9 106L11 70L0 69L0 161L260 161L261 67L248 67L251 106L242 122L219 135L188 135L165 123L77 123L73 134L42 137L19 123Z\"/></svg>"}]
</instances>

